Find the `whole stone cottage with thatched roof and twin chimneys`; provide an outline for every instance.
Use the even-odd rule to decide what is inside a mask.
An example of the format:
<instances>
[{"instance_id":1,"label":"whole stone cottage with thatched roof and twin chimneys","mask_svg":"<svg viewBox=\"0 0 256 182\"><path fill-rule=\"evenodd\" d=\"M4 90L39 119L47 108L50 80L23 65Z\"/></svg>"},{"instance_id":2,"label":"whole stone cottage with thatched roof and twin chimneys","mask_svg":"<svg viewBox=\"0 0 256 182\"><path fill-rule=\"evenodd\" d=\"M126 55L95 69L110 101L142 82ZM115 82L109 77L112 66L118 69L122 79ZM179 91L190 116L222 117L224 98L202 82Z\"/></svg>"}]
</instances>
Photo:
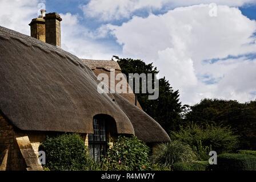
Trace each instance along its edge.
<instances>
[{"instance_id":1,"label":"whole stone cottage with thatched roof and twin chimneys","mask_svg":"<svg viewBox=\"0 0 256 182\"><path fill-rule=\"evenodd\" d=\"M61 20L42 10L31 36L0 26L0 170L42 170L38 147L47 135L79 133L97 159L121 134L151 147L169 142L133 93L97 92L97 75L121 68L63 51Z\"/></svg>"}]
</instances>

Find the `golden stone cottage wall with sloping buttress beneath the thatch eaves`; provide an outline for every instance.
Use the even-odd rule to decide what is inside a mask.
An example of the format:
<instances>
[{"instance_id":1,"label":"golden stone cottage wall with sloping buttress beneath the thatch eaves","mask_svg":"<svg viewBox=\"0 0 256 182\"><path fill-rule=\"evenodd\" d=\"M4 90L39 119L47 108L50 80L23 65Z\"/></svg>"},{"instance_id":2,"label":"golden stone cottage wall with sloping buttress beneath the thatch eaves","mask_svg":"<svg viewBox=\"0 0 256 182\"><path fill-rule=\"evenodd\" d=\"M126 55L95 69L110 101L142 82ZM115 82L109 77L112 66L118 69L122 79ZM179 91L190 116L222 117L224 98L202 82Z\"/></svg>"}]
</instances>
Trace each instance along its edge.
<instances>
[{"instance_id":1,"label":"golden stone cottage wall with sloping buttress beneath the thatch eaves","mask_svg":"<svg viewBox=\"0 0 256 182\"><path fill-rule=\"evenodd\" d=\"M0 171L42 170L38 163L38 148L46 136L55 136L58 132L21 131L13 127L0 114ZM87 134L81 134L88 146Z\"/></svg>"}]
</instances>

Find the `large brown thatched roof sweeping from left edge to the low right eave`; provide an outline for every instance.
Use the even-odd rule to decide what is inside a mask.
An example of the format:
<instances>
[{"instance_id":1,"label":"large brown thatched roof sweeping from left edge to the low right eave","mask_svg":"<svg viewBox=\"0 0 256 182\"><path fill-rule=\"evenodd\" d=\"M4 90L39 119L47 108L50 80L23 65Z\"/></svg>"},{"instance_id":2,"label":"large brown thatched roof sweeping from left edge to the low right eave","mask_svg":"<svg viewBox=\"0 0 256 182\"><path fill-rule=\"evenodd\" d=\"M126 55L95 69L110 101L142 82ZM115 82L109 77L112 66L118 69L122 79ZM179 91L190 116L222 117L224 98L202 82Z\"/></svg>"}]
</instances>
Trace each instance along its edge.
<instances>
[{"instance_id":1,"label":"large brown thatched roof sweeping from left edge to the low right eave","mask_svg":"<svg viewBox=\"0 0 256 182\"><path fill-rule=\"evenodd\" d=\"M145 142L170 140L118 94L99 94L97 77L78 57L1 26L0 45L0 110L19 129L93 133L94 115L107 114L119 134L135 130Z\"/></svg>"}]
</instances>

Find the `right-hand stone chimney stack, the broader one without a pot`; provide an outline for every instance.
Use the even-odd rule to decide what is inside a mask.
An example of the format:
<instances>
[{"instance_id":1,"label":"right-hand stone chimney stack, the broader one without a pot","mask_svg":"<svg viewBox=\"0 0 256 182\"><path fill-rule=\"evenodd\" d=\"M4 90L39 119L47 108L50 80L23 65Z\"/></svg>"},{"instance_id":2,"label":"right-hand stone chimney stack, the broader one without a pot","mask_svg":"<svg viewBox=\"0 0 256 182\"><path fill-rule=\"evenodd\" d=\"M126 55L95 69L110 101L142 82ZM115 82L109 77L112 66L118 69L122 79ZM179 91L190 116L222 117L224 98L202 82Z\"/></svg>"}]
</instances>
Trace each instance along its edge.
<instances>
[{"instance_id":1,"label":"right-hand stone chimney stack, the broader one without a pot","mask_svg":"<svg viewBox=\"0 0 256 182\"><path fill-rule=\"evenodd\" d=\"M61 16L57 13L48 13L44 19L46 43L61 47Z\"/></svg>"}]
</instances>

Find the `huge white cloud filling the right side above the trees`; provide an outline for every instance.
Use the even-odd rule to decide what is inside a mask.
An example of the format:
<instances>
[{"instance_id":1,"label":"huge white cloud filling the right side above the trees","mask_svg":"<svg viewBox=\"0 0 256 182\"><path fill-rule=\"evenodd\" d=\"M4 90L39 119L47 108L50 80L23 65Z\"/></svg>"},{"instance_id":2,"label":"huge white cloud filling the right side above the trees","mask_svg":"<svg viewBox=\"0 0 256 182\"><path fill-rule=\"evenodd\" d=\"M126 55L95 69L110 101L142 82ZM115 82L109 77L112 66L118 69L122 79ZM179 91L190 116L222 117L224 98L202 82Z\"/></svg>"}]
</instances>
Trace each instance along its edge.
<instances>
[{"instance_id":1,"label":"huge white cloud filling the right side above the trees","mask_svg":"<svg viewBox=\"0 0 256 182\"><path fill-rule=\"evenodd\" d=\"M209 6L180 7L163 15L133 17L122 26L111 26L112 34L123 46L123 55L155 60L161 76L181 91L188 104L202 98L249 101L256 97L256 60L246 57L206 64L203 60L229 55L256 53L251 35L256 22L237 8L218 6L218 16L209 16ZM138 51L139 50L139 51ZM215 80L205 84L201 77ZM217 82L216 82L217 81Z\"/></svg>"}]
</instances>

